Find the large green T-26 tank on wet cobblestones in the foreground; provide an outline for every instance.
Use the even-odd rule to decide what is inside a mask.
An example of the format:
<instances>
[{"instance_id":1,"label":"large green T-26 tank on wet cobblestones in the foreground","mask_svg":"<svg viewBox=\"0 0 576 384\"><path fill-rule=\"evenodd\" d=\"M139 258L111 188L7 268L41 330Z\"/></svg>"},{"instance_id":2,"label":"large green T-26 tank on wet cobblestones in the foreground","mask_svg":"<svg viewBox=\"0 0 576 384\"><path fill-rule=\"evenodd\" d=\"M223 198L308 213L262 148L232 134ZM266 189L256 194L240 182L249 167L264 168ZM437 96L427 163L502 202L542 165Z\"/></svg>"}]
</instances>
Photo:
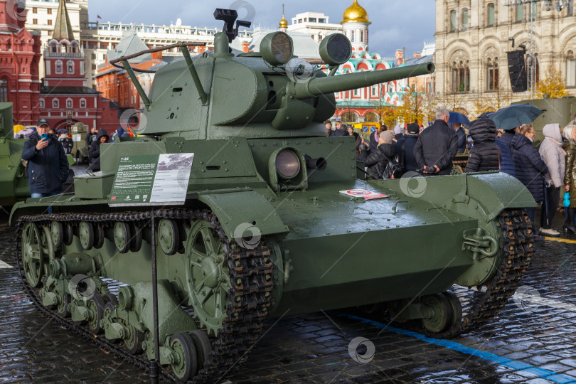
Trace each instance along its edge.
<instances>
[{"instance_id":1,"label":"large green T-26 tank on wet cobblestones in the foreground","mask_svg":"<svg viewBox=\"0 0 576 384\"><path fill-rule=\"evenodd\" d=\"M436 337L495 316L533 252L523 208L535 203L521 183L494 172L361 179L353 137L326 137L334 92L434 65L336 76L351 56L336 33L320 46L326 74L290 61L286 33L267 35L260 52L231 50L246 23L233 28L235 11L215 16L225 28L212 53L191 58L181 44L183 59L156 72L149 95L134 82L146 105L138 137L102 144L102 170L76 176L75 196L12 210L41 311L142 368L159 356L170 367L162 375L195 383L228 375L265 321L288 314L348 308ZM131 57L121 60L134 79ZM173 180L183 203L142 201L150 196L134 183L186 169L187 154L191 170ZM164 160L138 162L154 156ZM141 173L128 180L127 169Z\"/></svg>"}]
</instances>

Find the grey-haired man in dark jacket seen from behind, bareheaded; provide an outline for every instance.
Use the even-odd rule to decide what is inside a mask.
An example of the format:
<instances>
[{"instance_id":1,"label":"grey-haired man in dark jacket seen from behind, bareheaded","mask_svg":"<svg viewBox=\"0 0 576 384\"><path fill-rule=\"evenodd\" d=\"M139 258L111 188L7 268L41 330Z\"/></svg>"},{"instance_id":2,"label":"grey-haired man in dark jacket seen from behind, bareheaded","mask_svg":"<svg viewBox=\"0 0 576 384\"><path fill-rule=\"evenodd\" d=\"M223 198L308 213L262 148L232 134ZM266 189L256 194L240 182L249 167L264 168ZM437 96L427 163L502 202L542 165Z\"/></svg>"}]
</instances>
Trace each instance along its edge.
<instances>
[{"instance_id":1,"label":"grey-haired man in dark jacket seen from behind, bareheaded","mask_svg":"<svg viewBox=\"0 0 576 384\"><path fill-rule=\"evenodd\" d=\"M422 131L414 146L418 168L426 169L425 174L428 176L449 175L452 172L452 160L458 150L458 137L454 129L448 127L449 116L447 109L438 108L436 120Z\"/></svg>"}]
</instances>

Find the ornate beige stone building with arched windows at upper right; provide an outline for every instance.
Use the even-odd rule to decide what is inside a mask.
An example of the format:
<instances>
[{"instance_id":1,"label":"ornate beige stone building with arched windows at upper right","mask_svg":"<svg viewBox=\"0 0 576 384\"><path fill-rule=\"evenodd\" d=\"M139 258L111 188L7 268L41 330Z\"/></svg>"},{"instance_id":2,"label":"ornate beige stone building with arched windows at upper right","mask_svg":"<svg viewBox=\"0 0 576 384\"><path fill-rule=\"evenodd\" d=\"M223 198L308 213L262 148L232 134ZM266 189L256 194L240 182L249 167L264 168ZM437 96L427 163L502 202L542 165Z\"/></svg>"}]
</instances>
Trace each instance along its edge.
<instances>
[{"instance_id":1,"label":"ornate beige stone building with arched windows at upper right","mask_svg":"<svg viewBox=\"0 0 576 384\"><path fill-rule=\"evenodd\" d=\"M536 80L551 66L562 73L568 92L576 95L576 15L572 0L560 11L555 9L555 2L550 9L546 1L523 2L436 0L439 102L452 109L462 108L473 117L483 100L504 98L509 104L530 98L529 92L511 92L506 52L520 46L528 49L528 63L535 63Z\"/></svg>"}]
</instances>

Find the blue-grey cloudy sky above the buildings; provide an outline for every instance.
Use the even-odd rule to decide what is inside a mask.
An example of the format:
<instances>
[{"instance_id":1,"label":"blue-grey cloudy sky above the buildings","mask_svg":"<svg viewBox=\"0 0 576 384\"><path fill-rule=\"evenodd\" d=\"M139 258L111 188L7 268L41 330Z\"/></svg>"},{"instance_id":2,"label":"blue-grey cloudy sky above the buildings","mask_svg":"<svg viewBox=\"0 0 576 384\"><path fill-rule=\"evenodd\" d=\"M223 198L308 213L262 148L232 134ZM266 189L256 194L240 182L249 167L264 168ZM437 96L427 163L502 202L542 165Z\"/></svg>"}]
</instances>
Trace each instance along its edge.
<instances>
[{"instance_id":1,"label":"blue-grey cloudy sky above the buildings","mask_svg":"<svg viewBox=\"0 0 576 384\"><path fill-rule=\"evenodd\" d=\"M352 0L90 0L90 21L170 25L181 18L184 26L222 28L214 9L238 9L240 18L252 18L252 26L278 28L282 3L289 23L296 14L324 12L331 23L342 21ZM424 41L434 41L434 0L359 0L368 11L370 51L385 57L406 47L406 55L422 50Z\"/></svg>"}]
</instances>

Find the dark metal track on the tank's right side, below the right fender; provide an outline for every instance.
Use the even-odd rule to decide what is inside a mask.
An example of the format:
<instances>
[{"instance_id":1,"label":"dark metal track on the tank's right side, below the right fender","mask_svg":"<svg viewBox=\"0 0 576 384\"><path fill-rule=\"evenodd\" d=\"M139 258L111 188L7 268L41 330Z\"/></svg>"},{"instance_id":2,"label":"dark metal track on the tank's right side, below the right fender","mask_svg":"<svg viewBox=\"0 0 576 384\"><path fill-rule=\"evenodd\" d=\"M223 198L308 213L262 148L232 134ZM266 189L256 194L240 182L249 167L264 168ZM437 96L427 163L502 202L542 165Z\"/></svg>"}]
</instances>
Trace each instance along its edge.
<instances>
[{"instance_id":1,"label":"dark metal track on the tank's right side, below the right fender","mask_svg":"<svg viewBox=\"0 0 576 384\"><path fill-rule=\"evenodd\" d=\"M428 331L420 321L393 322L394 326L433 338L452 338L479 329L493 319L520 286L530 266L534 239L526 210L504 210L498 215L498 223L503 235L503 257L496 274L485 284L486 291L470 293L465 287L452 287L462 304L459 324L439 333Z\"/></svg>"}]
</instances>

